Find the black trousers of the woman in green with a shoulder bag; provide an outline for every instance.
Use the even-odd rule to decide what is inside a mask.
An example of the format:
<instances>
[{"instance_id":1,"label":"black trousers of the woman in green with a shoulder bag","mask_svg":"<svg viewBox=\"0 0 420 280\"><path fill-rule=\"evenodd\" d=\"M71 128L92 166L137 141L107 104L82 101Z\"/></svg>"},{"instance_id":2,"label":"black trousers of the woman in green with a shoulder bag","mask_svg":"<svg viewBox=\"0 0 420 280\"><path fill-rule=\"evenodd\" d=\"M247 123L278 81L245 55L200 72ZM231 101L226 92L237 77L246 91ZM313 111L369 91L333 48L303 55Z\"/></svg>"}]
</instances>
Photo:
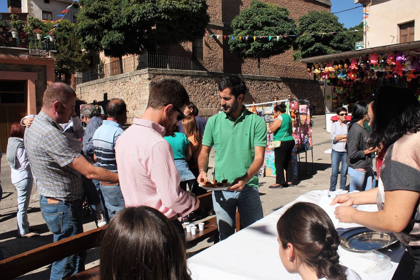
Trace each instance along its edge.
<instances>
[{"instance_id":1,"label":"black trousers of the woman in green with a shoulder bag","mask_svg":"<svg viewBox=\"0 0 420 280\"><path fill-rule=\"evenodd\" d=\"M294 147L294 140L281 141L280 148L274 149L274 165L276 166L276 184L287 184L287 168L291 161L291 151ZM284 177L286 170L286 178Z\"/></svg>"}]
</instances>

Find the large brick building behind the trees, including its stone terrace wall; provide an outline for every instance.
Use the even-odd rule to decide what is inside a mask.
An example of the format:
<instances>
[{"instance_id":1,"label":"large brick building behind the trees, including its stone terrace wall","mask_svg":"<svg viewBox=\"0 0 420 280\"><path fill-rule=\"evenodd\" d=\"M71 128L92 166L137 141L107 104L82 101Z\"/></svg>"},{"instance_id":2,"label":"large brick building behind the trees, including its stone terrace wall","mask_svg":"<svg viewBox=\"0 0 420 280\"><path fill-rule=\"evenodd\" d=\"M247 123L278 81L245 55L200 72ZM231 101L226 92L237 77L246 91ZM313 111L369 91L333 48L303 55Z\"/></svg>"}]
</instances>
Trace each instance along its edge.
<instances>
[{"instance_id":1,"label":"large brick building behind the trees, including its stone terrace wall","mask_svg":"<svg viewBox=\"0 0 420 280\"><path fill-rule=\"evenodd\" d=\"M330 0L263 1L286 7L295 20L309 11L331 11ZM260 74L257 73L256 60L244 61L230 52L223 35L231 34L232 19L250 3L251 0L207 0L210 23L206 33L221 35L218 39L205 36L177 45L151 44L147 53L123 57L121 64L118 58L108 58L103 54L92 58L94 64L101 60L105 66L76 75L79 99L89 103L101 100L100 104L105 105L110 98L123 98L128 103L130 122L144 112L150 82L168 77L181 81L191 100L197 104L200 115L211 116L220 109L217 90L220 78L234 73L243 75L247 82L249 95L246 102L269 101L275 96L282 99L291 93L299 99L309 98L315 114L323 114L323 84L310 80L305 73L306 64L293 61L292 50L262 59Z\"/></svg>"}]
</instances>

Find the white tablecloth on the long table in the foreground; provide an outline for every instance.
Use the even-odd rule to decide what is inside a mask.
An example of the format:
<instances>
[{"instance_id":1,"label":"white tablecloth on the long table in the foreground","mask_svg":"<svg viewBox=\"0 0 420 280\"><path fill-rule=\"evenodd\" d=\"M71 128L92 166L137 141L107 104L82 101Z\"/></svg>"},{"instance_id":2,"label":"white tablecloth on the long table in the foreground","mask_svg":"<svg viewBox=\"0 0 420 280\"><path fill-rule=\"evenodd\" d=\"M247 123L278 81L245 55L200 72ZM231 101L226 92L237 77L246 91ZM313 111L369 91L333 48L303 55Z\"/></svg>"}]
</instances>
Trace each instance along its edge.
<instances>
[{"instance_id":1,"label":"white tablecloth on the long table in the foreground","mask_svg":"<svg viewBox=\"0 0 420 280\"><path fill-rule=\"evenodd\" d=\"M188 259L188 266L194 280L206 279L302 279L298 274L290 274L281 264L278 256L276 223L279 217L291 205L298 201L317 203L323 195L321 190L314 190L301 195L296 200L283 206L263 219L255 222L226 240ZM375 207L375 206L371 206ZM298 221L297 221L298 222ZM293 225L291 225L293 226ZM360 227L356 224L339 223L339 234L343 229ZM371 275L362 273L370 261L359 257L362 253L346 251L339 247L340 262L353 269L364 280L391 279L404 254L405 246L397 242L383 251L391 258L392 268Z\"/></svg>"}]
</instances>

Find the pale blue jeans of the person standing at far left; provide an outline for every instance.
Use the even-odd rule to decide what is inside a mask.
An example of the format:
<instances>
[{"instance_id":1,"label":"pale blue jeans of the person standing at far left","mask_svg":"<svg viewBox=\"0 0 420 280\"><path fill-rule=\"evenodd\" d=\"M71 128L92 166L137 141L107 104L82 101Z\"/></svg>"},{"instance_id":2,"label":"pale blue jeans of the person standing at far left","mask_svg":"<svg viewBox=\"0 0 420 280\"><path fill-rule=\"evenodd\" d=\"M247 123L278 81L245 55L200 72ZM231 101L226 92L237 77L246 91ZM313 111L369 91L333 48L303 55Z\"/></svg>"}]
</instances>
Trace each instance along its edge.
<instances>
[{"instance_id":1,"label":"pale blue jeans of the person standing at far left","mask_svg":"<svg viewBox=\"0 0 420 280\"><path fill-rule=\"evenodd\" d=\"M29 233L28 206L29 200L31 199L33 182L34 179L25 178L14 184L18 192L18 212L16 213L16 217L18 219L19 235Z\"/></svg>"}]
</instances>

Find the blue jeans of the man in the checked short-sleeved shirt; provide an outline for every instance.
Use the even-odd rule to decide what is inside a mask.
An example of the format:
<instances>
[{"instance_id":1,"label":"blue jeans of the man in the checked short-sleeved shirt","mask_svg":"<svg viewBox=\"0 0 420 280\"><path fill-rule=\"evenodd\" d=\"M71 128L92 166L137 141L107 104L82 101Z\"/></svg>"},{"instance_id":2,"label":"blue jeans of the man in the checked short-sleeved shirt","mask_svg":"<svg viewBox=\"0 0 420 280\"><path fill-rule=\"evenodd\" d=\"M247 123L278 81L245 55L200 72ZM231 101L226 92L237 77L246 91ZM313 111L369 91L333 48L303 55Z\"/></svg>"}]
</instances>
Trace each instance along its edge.
<instances>
[{"instance_id":1,"label":"blue jeans of the man in the checked short-sleeved shirt","mask_svg":"<svg viewBox=\"0 0 420 280\"><path fill-rule=\"evenodd\" d=\"M48 203L45 196L39 195L41 214L48 229L53 232L54 242L83 232L82 200ZM63 279L84 271L86 251L67 256L53 262L50 279Z\"/></svg>"}]
</instances>

